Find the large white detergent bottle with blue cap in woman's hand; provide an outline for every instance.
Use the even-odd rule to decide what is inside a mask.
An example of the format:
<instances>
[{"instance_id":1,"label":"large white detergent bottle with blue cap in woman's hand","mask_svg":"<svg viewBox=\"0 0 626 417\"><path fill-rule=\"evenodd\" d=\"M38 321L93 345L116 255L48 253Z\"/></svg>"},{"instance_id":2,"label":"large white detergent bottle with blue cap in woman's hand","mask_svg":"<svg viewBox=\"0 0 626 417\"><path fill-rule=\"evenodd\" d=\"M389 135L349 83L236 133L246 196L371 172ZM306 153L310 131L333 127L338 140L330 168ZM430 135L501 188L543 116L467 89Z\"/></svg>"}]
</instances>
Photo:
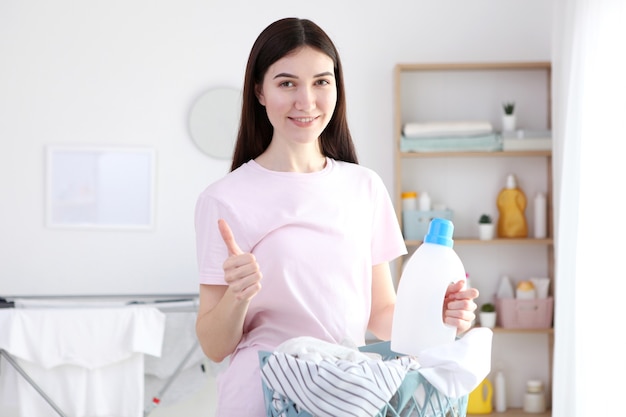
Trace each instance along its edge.
<instances>
[{"instance_id":1,"label":"large white detergent bottle with blue cap in woman's hand","mask_svg":"<svg viewBox=\"0 0 626 417\"><path fill-rule=\"evenodd\" d=\"M448 285L465 280L465 268L452 249L454 225L434 218L405 265L398 285L391 328L391 350L418 356L429 347L453 342L456 328L443 322Z\"/></svg>"}]
</instances>

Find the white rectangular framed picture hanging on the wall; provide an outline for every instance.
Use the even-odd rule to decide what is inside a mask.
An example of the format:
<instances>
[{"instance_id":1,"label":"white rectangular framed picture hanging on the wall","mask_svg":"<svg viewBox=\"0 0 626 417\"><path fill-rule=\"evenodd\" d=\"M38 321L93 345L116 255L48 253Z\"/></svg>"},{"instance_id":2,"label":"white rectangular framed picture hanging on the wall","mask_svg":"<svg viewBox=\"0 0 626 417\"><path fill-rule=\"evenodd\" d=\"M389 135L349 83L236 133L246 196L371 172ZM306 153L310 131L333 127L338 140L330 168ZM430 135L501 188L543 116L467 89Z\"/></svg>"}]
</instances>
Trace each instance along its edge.
<instances>
[{"instance_id":1,"label":"white rectangular framed picture hanging on the wall","mask_svg":"<svg viewBox=\"0 0 626 417\"><path fill-rule=\"evenodd\" d=\"M154 228L152 148L46 148L46 224L58 228Z\"/></svg>"}]
</instances>

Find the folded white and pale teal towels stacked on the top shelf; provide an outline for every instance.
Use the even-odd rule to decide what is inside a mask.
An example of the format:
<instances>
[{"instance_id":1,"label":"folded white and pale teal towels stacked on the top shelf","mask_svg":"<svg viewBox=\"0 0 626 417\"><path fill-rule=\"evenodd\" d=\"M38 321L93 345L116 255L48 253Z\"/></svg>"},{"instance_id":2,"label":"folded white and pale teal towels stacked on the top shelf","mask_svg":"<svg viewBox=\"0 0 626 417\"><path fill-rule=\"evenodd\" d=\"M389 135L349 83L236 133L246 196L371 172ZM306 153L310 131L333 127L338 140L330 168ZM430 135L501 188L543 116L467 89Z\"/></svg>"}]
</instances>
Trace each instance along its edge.
<instances>
[{"instance_id":1,"label":"folded white and pale teal towels stacked on the top shelf","mask_svg":"<svg viewBox=\"0 0 626 417\"><path fill-rule=\"evenodd\" d=\"M500 151L502 139L487 121L406 123L401 152Z\"/></svg>"}]
</instances>

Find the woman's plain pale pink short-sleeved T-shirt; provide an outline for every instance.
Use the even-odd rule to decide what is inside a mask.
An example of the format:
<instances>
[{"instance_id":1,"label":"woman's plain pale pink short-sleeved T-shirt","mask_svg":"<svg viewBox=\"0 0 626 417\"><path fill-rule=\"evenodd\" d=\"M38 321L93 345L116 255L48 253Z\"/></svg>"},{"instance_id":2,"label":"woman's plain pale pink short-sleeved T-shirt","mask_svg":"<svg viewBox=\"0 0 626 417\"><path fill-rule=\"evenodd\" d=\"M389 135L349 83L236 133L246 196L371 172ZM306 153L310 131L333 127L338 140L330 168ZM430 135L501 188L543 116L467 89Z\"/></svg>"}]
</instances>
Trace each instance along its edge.
<instances>
[{"instance_id":1,"label":"woman's plain pale pink short-sleeved T-shirt","mask_svg":"<svg viewBox=\"0 0 626 417\"><path fill-rule=\"evenodd\" d=\"M322 171L306 174L250 161L202 192L195 219L201 284L225 285L220 218L255 255L263 280L220 375L217 415L262 417L258 351L298 336L364 344L372 266L406 247L380 177L330 158Z\"/></svg>"}]
</instances>

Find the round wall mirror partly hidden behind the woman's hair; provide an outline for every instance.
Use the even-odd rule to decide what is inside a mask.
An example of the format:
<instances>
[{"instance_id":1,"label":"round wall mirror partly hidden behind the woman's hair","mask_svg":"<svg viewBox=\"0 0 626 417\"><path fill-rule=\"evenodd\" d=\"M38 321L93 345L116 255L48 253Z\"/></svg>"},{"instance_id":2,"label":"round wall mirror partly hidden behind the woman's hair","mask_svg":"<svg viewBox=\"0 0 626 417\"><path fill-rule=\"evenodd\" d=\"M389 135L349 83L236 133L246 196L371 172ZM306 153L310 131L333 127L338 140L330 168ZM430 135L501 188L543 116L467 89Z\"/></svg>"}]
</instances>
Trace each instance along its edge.
<instances>
[{"instance_id":1,"label":"round wall mirror partly hidden behind the woman's hair","mask_svg":"<svg viewBox=\"0 0 626 417\"><path fill-rule=\"evenodd\" d=\"M239 129L241 91L214 88L202 94L189 113L189 133L198 148L218 159L231 159Z\"/></svg>"}]
</instances>

